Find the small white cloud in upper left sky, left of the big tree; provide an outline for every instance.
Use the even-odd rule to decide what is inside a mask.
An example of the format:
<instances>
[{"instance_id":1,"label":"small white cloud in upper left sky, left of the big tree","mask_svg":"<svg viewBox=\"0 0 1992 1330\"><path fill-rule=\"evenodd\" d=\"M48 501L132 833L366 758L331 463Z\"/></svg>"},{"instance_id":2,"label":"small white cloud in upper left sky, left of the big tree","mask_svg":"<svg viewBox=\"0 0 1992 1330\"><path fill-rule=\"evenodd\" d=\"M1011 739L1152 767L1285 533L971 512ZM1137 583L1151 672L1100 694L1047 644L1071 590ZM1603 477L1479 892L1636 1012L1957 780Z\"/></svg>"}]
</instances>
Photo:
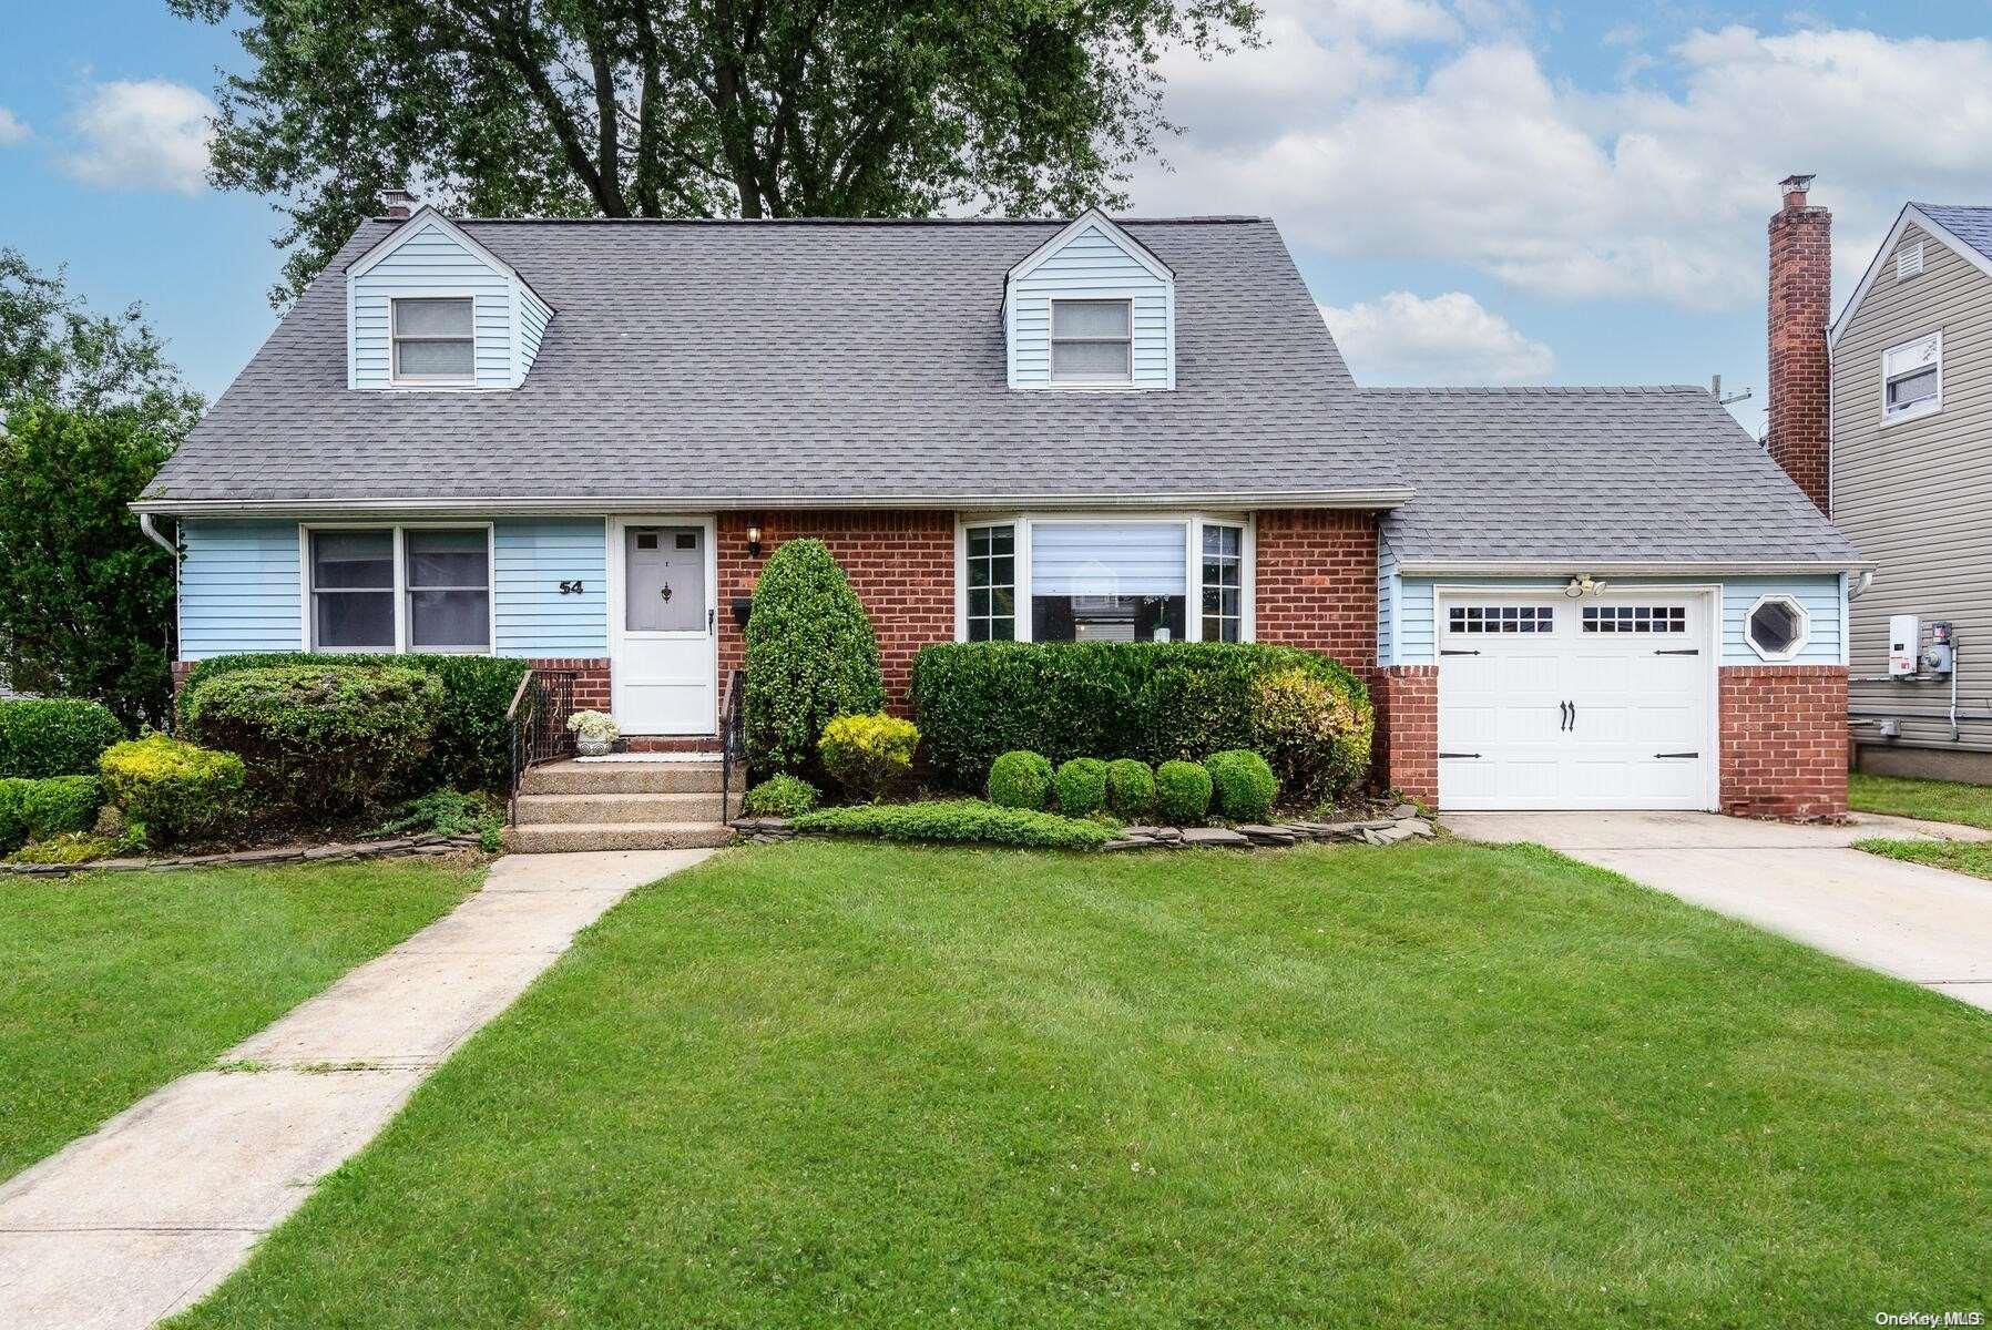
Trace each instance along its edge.
<instances>
[{"instance_id":1,"label":"small white cloud in upper left sky, left of the big tree","mask_svg":"<svg viewBox=\"0 0 1992 1330\"><path fill-rule=\"evenodd\" d=\"M215 104L167 80L96 84L70 119L76 149L64 169L106 189L207 187Z\"/></svg>"}]
</instances>

